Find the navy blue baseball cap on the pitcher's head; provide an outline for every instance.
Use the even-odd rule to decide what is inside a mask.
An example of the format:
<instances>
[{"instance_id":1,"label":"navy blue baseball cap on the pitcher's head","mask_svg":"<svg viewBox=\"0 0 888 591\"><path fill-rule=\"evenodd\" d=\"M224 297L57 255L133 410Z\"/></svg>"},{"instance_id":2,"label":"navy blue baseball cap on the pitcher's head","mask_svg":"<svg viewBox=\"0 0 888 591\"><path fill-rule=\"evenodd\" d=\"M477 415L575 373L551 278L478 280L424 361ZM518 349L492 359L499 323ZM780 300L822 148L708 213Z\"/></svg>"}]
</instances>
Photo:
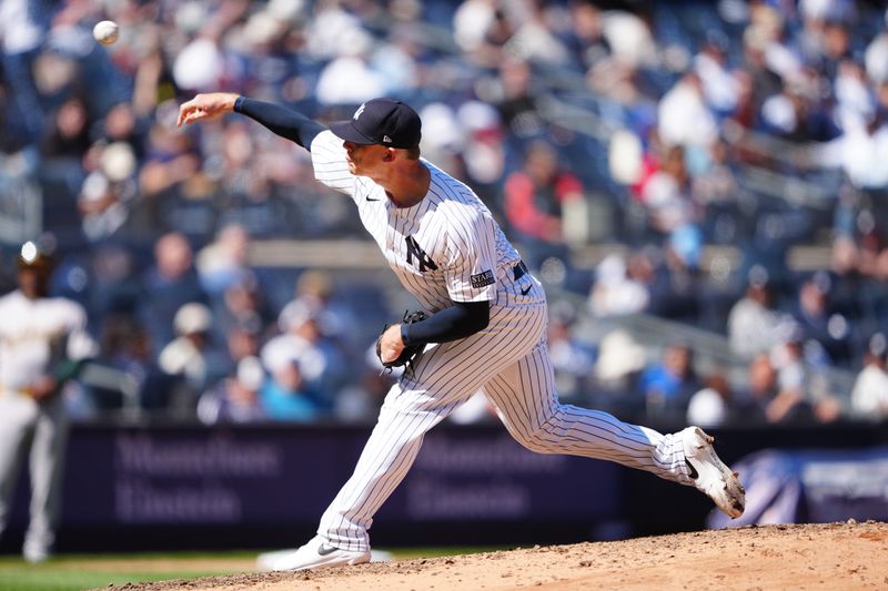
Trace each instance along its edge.
<instances>
[{"instance_id":1,"label":"navy blue baseball cap on the pitcher's head","mask_svg":"<svg viewBox=\"0 0 888 591\"><path fill-rule=\"evenodd\" d=\"M416 111L394 99L367 101L357 108L352 119L330 125L330 130L346 142L400 149L420 145L421 129Z\"/></svg>"}]
</instances>

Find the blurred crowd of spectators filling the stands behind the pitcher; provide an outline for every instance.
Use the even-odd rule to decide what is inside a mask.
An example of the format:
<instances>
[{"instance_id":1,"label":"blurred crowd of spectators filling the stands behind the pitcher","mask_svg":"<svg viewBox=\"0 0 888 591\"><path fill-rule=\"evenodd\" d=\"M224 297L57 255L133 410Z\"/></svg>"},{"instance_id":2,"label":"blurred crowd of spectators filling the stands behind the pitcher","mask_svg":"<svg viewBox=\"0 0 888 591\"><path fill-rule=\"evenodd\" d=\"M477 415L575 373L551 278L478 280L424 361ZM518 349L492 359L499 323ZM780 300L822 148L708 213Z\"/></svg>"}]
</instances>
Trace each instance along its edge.
<instances>
[{"instance_id":1,"label":"blurred crowd of spectators filling the stands behind the pitcher","mask_svg":"<svg viewBox=\"0 0 888 591\"><path fill-rule=\"evenodd\" d=\"M877 0L0 0L3 287L20 242L54 246L53 291L124 378L87 373L77 417L372 418L395 377L373 340L403 297L376 268L259 255L325 240L347 261L365 238L347 200L245 118L174 123L200 91L321 121L389 95L546 284L566 401L885 418L887 20ZM730 363L583 330L638 314L722 336Z\"/></svg>"}]
</instances>

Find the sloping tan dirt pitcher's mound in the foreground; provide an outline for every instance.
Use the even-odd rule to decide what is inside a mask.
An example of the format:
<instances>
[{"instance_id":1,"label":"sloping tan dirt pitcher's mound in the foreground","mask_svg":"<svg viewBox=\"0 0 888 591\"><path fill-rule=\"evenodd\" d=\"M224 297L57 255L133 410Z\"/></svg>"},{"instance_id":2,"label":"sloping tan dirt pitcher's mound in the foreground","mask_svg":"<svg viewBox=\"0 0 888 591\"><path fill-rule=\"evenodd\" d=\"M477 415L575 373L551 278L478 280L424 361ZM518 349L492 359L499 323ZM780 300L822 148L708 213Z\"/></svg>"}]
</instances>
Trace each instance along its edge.
<instances>
[{"instance_id":1,"label":"sloping tan dirt pitcher's mound in the foreground","mask_svg":"<svg viewBox=\"0 0 888 591\"><path fill-rule=\"evenodd\" d=\"M888 523L748 527L125 589L490 591L533 587L886 589Z\"/></svg>"}]
</instances>

